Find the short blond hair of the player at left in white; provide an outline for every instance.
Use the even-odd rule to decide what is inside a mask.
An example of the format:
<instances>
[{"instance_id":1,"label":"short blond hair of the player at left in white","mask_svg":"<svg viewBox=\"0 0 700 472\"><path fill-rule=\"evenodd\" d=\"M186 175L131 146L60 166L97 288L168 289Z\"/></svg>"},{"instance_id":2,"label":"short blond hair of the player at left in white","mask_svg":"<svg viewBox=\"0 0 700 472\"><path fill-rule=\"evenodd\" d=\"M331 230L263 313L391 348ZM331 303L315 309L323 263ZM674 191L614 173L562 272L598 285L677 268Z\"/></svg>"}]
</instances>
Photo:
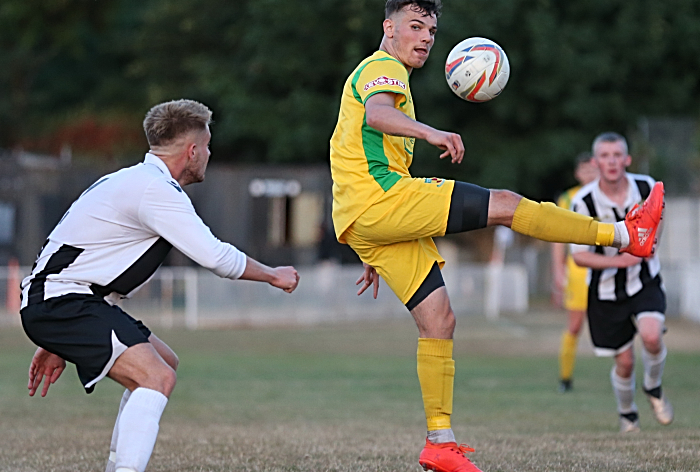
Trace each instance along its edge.
<instances>
[{"instance_id":1,"label":"short blond hair of the player at left in white","mask_svg":"<svg viewBox=\"0 0 700 472\"><path fill-rule=\"evenodd\" d=\"M172 100L148 110L143 130L150 146L164 146L190 131L204 131L211 114L206 105L194 100Z\"/></svg>"}]
</instances>

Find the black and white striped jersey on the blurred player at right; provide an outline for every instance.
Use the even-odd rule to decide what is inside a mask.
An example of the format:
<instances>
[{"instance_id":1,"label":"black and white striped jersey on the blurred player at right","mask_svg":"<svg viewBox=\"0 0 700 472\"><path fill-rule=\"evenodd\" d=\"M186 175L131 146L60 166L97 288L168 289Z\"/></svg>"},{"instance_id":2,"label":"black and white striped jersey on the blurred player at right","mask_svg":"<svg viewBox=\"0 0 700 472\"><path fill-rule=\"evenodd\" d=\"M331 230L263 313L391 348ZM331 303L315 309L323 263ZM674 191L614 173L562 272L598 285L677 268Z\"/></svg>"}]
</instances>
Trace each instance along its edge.
<instances>
[{"instance_id":1,"label":"black and white striped jersey on the blurred player at right","mask_svg":"<svg viewBox=\"0 0 700 472\"><path fill-rule=\"evenodd\" d=\"M610 200L598 185L598 180L581 188L571 201L571 209L586 216L592 216L604 223L622 221L635 203L640 203L649 196L654 186L654 179L648 175L627 173L629 190L625 206L620 207ZM614 247L571 245L571 252L593 251L614 257L619 251ZM608 268L588 271L588 283L593 295L599 300L625 300L639 292L651 282L661 270L658 256L652 256L641 263L624 269Z\"/></svg>"}]
</instances>

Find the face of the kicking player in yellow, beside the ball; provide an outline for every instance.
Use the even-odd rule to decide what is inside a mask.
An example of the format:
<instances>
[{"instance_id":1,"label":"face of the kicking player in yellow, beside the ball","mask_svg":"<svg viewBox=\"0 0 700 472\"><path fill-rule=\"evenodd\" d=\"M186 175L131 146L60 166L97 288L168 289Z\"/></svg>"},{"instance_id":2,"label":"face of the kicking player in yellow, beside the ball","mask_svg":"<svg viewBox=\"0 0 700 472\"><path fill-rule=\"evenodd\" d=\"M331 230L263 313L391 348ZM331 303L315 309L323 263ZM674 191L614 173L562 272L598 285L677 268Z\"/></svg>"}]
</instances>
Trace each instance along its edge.
<instances>
[{"instance_id":1,"label":"face of the kicking player in yellow, beside the ball","mask_svg":"<svg viewBox=\"0 0 700 472\"><path fill-rule=\"evenodd\" d=\"M415 11L407 5L385 20L385 34L397 59L410 69L423 67L435 43L437 18L424 15L423 11Z\"/></svg>"}]
</instances>

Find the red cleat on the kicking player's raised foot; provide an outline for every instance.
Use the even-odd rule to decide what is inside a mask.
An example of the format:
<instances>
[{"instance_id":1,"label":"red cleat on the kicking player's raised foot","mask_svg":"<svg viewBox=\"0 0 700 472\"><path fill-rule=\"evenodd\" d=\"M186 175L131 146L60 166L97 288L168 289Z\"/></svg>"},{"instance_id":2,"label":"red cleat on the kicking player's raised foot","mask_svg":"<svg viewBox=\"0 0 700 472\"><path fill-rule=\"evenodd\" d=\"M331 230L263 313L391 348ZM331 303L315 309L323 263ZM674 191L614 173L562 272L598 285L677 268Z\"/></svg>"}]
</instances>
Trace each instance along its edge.
<instances>
[{"instance_id":1,"label":"red cleat on the kicking player's raised foot","mask_svg":"<svg viewBox=\"0 0 700 472\"><path fill-rule=\"evenodd\" d=\"M664 205L664 184L656 182L644 203L633 206L625 216L630 244L620 252L628 252L637 257L650 257L654 254L656 230L659 229Z\"/></svg>"}]
</instances>

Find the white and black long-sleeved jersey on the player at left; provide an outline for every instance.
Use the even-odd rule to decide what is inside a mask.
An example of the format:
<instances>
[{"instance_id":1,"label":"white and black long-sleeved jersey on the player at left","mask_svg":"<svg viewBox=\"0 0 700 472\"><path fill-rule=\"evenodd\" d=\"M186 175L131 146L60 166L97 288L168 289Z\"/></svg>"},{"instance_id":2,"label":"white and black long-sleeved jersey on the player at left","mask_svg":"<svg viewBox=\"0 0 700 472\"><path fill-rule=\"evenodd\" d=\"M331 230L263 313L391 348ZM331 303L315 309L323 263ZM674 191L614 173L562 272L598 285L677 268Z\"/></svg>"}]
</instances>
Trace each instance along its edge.
<instances>
[{"instance_id":1,"label":"white and black long-sleeved jersey on the player at left","mask_svg":"<svg viewBox=\"0 0 700 472\"><path fill-rule=\"evenodd\" d=\"M128 298L173 246L220 277L236 279L246 267L246 255L214 237L165 163L149 153L73 202L22 281L22 308L69 293L110 303Z\"/></svg>"}]
</instances>

